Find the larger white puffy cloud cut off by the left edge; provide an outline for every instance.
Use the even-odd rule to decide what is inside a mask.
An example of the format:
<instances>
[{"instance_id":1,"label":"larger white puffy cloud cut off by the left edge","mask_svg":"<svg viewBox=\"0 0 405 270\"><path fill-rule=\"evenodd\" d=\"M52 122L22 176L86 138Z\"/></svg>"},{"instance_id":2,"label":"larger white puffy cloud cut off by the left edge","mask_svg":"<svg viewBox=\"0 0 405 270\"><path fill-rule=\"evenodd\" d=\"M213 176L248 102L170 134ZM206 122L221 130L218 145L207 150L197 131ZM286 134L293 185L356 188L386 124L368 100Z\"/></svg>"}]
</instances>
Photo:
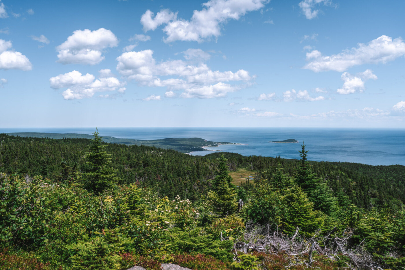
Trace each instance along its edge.
<instances>
[{"instance_id":1,"label":"larger white puffy cloud cut off by the left edge","mask_svg":"<svg viewBox=\"0 0 405 270\"><path fill-rule=\"evenodd\" d=\"M30 60L19 51L9 51L11 41L0 39L0 69L31 70Z\"/></svg>"}]
</instances>

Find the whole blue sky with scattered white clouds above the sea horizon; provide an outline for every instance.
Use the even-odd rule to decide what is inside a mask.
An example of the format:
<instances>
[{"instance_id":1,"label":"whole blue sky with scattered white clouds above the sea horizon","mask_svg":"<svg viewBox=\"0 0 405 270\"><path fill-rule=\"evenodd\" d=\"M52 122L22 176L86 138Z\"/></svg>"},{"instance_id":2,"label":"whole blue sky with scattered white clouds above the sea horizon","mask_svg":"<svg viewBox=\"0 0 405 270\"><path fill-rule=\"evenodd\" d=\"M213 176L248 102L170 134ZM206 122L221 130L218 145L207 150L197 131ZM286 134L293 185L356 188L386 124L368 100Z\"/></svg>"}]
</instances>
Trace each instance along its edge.
<instances>
[{"instance_id":1,"label":"whole blue sky with scattered white clouds above the sea horizon","mask_svg":"<svg viewBox=\"0 0 405 270\"><path fill-rule=\"evenodd\" d=\"M0 2L0 127L405 128L404 1Z\"/></svg>"}]
</instances>

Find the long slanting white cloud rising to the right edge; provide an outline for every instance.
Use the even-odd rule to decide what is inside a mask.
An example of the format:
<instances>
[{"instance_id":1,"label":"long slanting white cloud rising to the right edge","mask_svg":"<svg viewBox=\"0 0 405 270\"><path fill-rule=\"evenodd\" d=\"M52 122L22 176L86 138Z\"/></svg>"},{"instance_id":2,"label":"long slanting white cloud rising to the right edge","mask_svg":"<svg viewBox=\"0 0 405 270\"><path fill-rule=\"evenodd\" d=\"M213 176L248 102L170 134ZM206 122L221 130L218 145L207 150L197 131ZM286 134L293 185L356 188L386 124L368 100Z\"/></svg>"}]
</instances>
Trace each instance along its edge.
<instances>
[{"instance_id":1,"label":"long slanting white cloud rising to the right edge","mask_svg":"<svg viewBox=\"0 0 405 270\"><path fill-rule=\"evenodd\" d=\"M368 44L359 43L358 47L344 50L339 54L322 56L317 50L307 53L307 63L304 68L320 71L345 71L347 68L362 64L385 64L405 54L405 42L402 38L392 40L389 36L380 36Z\"/></svg>"}]
</instances>

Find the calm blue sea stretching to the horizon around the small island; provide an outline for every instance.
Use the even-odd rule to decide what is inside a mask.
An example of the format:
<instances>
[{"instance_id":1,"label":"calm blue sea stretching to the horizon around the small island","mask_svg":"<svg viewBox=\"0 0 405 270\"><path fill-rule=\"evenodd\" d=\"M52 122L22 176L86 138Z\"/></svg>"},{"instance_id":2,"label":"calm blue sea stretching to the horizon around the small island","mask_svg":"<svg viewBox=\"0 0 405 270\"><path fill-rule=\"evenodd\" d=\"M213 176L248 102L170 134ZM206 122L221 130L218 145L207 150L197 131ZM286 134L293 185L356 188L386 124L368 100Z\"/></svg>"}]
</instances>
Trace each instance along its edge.
<instances>
[{"instance_id":1,"label":"calm blue sea stretching to the horizon around the small island","mask_svg":"<svg viewBox=\"0 0 405 270\"><path fill-rule=\"evenodd\" d=\"M52 132L91 134L95 128L0 128L1 132ZM357 162L371 165L405 165L405 129L344 128L98 128L100 135L115 138L204 138L237 142L212 148L241 155L281 156L299 159L305 140L308 159ZM277 144L272 140L296 139L300 143ZM212 151L193 152L205 155Z\"/></svg>"}]
</instances>

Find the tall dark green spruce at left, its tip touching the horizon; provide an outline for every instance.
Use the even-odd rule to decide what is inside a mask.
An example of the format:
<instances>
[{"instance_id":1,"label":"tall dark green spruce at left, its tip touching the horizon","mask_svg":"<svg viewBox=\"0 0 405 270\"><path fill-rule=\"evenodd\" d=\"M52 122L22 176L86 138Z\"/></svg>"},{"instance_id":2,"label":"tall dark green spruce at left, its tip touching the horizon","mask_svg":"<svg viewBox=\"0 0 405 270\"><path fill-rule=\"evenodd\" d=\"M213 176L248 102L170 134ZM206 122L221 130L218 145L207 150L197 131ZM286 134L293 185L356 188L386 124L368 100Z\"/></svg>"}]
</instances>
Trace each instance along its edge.
<instances>
[{"instance_id":1,"label":"tall dark green spruce at left, its tip touching the horizon","mask_svg":"<svg viewBox=\"0 0 405 270\"><path fill-rule=\"evenodd\" d=\"M100 193L112 189L119 178L116 170L111 167L111 155L104 150L106 145L102 145L102 138L98 136L97 129L93 135L89 152L85 154L87 162L83 179L85 189Z\"/></svg>"}]
</instances>

